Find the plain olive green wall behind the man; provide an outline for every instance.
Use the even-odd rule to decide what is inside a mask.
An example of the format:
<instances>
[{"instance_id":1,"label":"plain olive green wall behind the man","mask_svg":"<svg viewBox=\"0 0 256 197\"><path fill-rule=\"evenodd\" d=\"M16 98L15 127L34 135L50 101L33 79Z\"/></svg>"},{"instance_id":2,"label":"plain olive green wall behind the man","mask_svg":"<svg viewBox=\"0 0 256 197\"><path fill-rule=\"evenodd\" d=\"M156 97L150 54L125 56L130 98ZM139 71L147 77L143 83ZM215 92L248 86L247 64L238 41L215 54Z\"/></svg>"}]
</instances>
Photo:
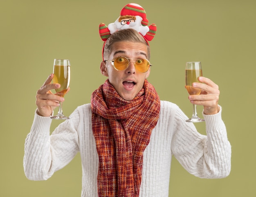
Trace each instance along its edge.
<instances>
[{"instance_id":1,"label":"plain olive green wall behind the man","mask_svg":"<svg viewBox=\"0 0 256 197\"><path fill-rule=\"evenodd\" d=\"M173 158L171 196L256 195L255 0L1 0L0 196L81 195L79 155L47 181L29 181L24 175L24 142L34 118L36 91L52 72L54 58L68 58L71 90L63 111L70 114L90 102L92 91L106 80L99 71L99 23L114 22L130 2L144 7L149 23L157 24L148 80L162 100L191 115L184 88L186 61L202 61L203 75L220 86L222 118L232 145L231 174L200 179ZM59 123L54 120L52 129ZM204 123L196 127L204 134Z\"/></svg>"}]
</instances>

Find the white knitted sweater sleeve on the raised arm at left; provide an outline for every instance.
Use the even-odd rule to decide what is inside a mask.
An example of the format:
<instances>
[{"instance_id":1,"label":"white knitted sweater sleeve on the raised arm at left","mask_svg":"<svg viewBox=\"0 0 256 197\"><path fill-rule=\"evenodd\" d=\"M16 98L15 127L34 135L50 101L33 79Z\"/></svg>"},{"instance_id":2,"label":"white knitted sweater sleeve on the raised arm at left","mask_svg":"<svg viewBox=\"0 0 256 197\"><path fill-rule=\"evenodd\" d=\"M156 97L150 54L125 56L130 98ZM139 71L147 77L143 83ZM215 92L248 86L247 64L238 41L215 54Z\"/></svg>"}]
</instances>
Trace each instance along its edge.
<instances>
[{"instance_id":1,"label":"white knitted sweater sleeve on the raised arm at left","mask_svg":"<svg viewBox=\"0 0 256 197\"><path fill-rule=\"evenodd\" d=\"M79 151L76 125L78 113L61 123L50 135L52 119L35 113L30 133L25 140L23 166L31 180L46 180L67 165Z\"/></svg>"}]
</instances>

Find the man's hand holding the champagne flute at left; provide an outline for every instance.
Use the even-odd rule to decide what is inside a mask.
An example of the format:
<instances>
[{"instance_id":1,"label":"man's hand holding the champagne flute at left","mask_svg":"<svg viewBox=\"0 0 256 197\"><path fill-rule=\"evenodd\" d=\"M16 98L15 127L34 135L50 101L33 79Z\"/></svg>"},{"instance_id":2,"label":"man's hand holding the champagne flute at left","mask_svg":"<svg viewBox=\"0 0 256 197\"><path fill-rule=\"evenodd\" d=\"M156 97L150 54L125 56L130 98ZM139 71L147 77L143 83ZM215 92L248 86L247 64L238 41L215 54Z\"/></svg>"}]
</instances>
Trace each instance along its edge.
<instances>
[{"instance_id":1,"label":"man's hand holding the champagne flute at left","mask_svg":"<svg viewBox=\"0 0 256 197\"><path fill-rule=\"evenodd\" d=\"M52 111L60 105L59 102L64 101L63 97L57 96L51 91L61 86L58 83L51 83L53 76L54 74L50 74L42 87L36 92L36 105L40 116L50 116Z\"/></svg>"}]
</instances>

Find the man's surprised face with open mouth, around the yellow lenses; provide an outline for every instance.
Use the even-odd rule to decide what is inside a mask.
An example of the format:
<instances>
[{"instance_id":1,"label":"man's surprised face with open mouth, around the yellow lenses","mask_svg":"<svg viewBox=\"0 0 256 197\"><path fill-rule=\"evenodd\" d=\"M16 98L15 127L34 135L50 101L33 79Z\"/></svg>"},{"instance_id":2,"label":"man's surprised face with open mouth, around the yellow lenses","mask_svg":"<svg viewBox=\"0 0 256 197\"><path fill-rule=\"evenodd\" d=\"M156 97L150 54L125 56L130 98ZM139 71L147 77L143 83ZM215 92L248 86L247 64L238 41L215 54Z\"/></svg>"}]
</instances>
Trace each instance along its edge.
<instances>
[{"instance_id":1,"label":"man's surprised face with open mouth, around the yellow lenses","mask_svg":"<svg viewBox=\"0 0 256 197\"><path fill-rule=\"evenodd\" d=\"M112 48L109 60L117 56L124 56L131 58L131 62L126 70L116 70L110 61L101 62L101 73L108 77L121 98L131 101L139 93L150 73L150 68L147 72L138 72L133 62L133 59L147 59L147 46L136 42L117 42Z\"/></svg>"}]
</instances>

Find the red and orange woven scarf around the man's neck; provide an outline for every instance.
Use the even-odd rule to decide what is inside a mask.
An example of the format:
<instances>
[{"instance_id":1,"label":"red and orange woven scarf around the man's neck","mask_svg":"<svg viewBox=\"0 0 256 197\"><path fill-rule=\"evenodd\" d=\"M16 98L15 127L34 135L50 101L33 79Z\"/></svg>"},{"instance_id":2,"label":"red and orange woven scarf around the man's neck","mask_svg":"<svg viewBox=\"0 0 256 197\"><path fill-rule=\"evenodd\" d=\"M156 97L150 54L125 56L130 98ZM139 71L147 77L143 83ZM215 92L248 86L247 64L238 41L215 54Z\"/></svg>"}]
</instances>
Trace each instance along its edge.
<instances>
[{"instance_id":1,"label":"red and orange woven scarf around the man's neck","mask_svg":"<svg viewBox=\"0 0 256 197\"><path fill-rule=\"evenodd\" d=\"M126 101L106 80L92 93L91 107L99 155L99 197L138 197L143 152L159 118L155 88L145 80L137 96Z\"/></svg>"}]
</instances>

